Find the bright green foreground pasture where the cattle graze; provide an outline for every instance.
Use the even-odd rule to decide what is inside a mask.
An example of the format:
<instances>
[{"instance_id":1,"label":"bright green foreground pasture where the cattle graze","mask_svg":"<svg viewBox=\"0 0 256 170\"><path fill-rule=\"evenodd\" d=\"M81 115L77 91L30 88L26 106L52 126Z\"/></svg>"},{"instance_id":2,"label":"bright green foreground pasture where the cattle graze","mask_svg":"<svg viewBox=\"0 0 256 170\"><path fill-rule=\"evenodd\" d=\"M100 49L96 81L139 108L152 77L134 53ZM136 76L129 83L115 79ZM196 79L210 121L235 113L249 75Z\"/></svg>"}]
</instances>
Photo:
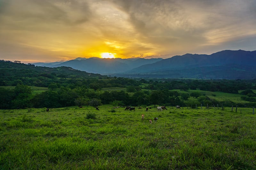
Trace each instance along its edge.
<instances>
[{"instance_id":1,"label":"bright green foreground pasture where the cattle graze","mask_svg":"<svg viewBox=\"0 0 256 170\"><path fill-rule=\"evenodd\" d=\"M252 108L167 108L0 110L0 169L256 169Z\"/></svg>"}]
</instances>

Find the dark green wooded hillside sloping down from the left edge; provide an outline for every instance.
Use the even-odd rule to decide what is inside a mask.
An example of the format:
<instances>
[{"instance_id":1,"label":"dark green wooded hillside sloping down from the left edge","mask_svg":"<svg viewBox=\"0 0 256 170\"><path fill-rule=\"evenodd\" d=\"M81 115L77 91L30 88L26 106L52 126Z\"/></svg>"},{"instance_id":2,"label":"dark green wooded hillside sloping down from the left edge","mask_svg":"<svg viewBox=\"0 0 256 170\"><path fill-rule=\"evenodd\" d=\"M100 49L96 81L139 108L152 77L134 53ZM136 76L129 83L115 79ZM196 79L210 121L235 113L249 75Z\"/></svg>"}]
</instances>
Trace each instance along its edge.
<instances>
[{"instance_id":1,"label":"dark green wooded hillside sloping down from the left edge","mask_svg":"<svg viewBox=\"0 0 256 170\"><path fill-rule=\"evenodd\" d=\"M28 84L47 87L48 85L42 84L46 78L54 82L58 78L106 78L106 76L75 70L71 67L40 67L0 60L0 86L6 85L7 82L13 82L11 85L16 85L19 81L23 83L31 81Z\"/></svg>"}]
</instances>

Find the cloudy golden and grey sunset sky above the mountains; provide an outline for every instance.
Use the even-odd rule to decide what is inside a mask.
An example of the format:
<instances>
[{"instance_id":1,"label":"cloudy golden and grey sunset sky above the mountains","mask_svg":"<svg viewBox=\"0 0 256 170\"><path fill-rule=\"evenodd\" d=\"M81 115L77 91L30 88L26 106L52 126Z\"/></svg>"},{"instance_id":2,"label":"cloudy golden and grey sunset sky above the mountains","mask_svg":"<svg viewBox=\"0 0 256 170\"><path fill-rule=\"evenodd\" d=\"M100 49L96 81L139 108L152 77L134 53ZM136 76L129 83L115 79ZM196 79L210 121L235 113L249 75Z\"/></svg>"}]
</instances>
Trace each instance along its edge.
<instances>
[{"instance_id":1,"label":"cloudy golden and grey sunset sky above the mountains","mask_svg":"<svg viewBox=\"0 0 256 170\"><path fill-rule=\"evenodd\" d=\"M256 50L255 0L0 0L0 59Z\"/></svg>"}]
</instances>

